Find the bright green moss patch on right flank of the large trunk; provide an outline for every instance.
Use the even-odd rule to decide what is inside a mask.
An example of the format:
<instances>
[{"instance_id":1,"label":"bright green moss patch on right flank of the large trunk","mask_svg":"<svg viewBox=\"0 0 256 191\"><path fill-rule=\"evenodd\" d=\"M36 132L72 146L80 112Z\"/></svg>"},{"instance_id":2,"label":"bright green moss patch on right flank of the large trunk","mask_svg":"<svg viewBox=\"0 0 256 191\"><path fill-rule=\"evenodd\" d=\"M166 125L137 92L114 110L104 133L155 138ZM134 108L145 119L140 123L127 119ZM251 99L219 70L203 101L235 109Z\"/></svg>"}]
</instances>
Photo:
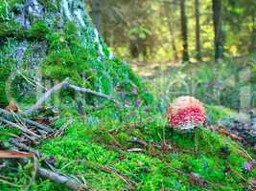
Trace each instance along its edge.
<instances>
[{"instance_id":1,"label":"bright green moss patch on right flank of the large trunk","mask_svg":"<svg viewBox=\"0 0 256 191\"><path fill-rule=\"evenodd\" d=\"M46 39L50 50L43 61L43 75L58 81L69 77L78 85L109 95L123 91L133 103L137 97L145 100L144 103L151 102L145 84L128 65L118 59L100 59L95 42L87 35L89 32L78 32L70 22L65 23L63 31L48 33ZM86 43L81 45L84 37L87 37ZM131 94L132 88L138 89L138 96Z\"/></svg>"}]
</instances>

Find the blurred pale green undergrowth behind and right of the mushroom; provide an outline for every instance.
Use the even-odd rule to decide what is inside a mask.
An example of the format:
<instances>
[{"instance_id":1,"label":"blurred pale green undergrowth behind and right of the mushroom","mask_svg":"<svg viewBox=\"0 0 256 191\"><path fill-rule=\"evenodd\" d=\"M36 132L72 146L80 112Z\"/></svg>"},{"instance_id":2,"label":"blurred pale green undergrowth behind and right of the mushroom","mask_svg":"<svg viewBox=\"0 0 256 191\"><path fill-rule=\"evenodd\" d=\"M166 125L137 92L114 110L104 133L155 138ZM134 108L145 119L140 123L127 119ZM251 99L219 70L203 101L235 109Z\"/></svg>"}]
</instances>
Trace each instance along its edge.
<instances>
[{"instance_id":1,"label":"blurred pale green undergrowth behind and right of the mushroom","mask_svg":"<svg viewBox=\"0 0 256 191\"><path fill-rule=\"evenodd\" d=\"M167 106L176 96L195 96L208 105L233 110L256 106L254 55L225 57L220 62L198 62L172 67L154 78L151 94Z\"/></svg>"}]
</instances>

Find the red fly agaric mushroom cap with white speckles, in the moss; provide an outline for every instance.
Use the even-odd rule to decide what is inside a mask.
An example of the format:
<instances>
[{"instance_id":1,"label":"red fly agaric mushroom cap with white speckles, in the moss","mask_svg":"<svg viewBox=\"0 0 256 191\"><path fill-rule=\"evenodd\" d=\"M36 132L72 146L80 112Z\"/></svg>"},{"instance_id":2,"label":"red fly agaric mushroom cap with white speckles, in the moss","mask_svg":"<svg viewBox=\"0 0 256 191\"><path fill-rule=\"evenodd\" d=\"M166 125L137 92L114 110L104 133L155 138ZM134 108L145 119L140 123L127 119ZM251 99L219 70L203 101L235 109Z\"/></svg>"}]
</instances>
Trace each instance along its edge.
<instances>
[{"instance_id":1,"label":"red fly agaric mushroom cap with white speckles, in the moss","mask_svg":"<svg viewBox=\"0 0 256 191\"><path fill-rule=\"evenodd\" d=\"M179 96L170 104L169 124L179 130L194 130L205 120L203 104L193 96Z\"/></svg>"}]
</instances>

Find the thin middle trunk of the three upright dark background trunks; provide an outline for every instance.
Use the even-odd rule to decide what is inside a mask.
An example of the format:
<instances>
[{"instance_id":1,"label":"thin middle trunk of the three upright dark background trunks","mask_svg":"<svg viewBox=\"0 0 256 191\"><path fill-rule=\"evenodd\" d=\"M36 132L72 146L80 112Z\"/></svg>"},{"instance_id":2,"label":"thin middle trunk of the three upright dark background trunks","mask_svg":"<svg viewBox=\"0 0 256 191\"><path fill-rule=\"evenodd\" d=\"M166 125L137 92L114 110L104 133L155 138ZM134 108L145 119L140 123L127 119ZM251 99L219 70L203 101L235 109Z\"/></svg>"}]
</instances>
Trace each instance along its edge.
<instances>
[{"instance_id":1,"label":"thin middle trunk of the three upright dark background trunks","mask_svg":"<svg viewBox=\"0 0 256 191\"><path fill-rule=\"evenodd\" d=\"M200 8L199 8L199 0L195 0L195 8L196 8L196 57L201 60L201 47L200 47Z\"/></svg>"}]
</instances>

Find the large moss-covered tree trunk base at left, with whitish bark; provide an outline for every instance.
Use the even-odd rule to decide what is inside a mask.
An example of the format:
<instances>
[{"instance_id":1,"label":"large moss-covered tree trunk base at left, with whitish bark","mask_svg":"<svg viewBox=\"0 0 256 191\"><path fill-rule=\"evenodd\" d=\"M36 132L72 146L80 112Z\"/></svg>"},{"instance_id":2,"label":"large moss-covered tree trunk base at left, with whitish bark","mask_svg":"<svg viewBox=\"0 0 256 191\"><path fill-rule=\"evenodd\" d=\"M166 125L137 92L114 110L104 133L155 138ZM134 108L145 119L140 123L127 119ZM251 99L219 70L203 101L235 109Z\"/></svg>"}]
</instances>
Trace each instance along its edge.
<instances>
[{"instance_id":1,"label":"large moss-covered tree trunk base at left, with whitish bark","mask_svg":"<svg viewBox=\"0 0 256 191\"><path fill-rule=\"evenodd\" d=\"M0 2L2 106L12 98L35 101L66 77L112 96L141 89L139 78L105 46L86 6L82 0Z\"/></svg>"}]
</instances>

